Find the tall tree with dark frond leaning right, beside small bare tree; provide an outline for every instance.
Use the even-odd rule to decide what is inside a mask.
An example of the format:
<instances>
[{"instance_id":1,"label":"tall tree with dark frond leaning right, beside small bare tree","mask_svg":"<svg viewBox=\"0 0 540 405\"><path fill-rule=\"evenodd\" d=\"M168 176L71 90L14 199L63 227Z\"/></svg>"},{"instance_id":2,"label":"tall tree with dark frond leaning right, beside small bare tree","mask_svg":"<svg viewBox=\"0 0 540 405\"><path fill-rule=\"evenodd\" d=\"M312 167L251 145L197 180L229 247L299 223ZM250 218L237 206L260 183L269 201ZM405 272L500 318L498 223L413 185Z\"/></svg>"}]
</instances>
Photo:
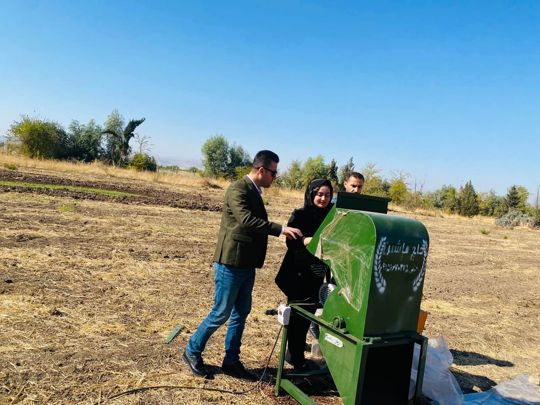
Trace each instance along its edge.
<instances>
[{"instance_id":1,"label":"tall tree with dark frond leaning right, beside small bare tree","mask_svg":"<svg viewBox=\"0 0 540 405\"><path fill-rule=\"evenodd\" d=\"M105 130L103 133L108 134L107 137L107 156L114 162L118 162L118 166L124 164L124 160L129 157L131 153L130 140L133 138L135 129L145 122L145 118L132 119L124 127L124 117L118 112L113 110L111 115L105 122Z\"/></svg>"}]
</instances>

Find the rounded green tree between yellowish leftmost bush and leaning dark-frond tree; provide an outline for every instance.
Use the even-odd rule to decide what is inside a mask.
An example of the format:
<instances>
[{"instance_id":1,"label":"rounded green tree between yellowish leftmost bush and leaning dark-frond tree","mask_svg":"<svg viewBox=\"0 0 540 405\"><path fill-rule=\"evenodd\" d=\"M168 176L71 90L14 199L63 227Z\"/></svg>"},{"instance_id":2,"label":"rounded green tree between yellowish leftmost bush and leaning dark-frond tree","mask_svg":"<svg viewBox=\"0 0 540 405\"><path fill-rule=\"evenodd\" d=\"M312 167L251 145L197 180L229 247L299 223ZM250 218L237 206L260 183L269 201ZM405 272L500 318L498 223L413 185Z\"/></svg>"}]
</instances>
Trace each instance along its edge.
<instances>
[{"instance_id":1,"label":"rounded green tree between yellowish leftmost bush and leaning dark-frond tree","mask_svg":"<svg viewBox=\"0 0 540 405\"><path fill-rule=\"evenodd\" d=\"M86 125L72 120L68 127L69 157L85 162L100 159L104 154L102 132L102 127L93 119Z\"/></svg>"}]
</instances>

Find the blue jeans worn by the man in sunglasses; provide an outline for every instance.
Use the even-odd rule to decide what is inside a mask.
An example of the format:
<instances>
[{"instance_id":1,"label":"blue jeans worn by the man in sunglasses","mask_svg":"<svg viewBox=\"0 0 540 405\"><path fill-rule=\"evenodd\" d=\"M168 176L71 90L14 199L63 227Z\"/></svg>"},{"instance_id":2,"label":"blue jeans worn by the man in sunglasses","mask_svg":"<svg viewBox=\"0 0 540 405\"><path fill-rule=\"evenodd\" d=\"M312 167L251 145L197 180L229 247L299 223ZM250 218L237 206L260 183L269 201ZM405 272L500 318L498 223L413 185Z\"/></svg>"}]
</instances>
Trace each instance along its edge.
<instances>
[{"instance_id":1,"label":"blue jeans worn by the man in sunglasses","mask_svg":"<svg viewBox=\"0 0 540 405\"><path fill-rule=\"evenodd\" d=\"M251 311L251 292L255 268L238 268L214 262L214 306L199 325L186 352L200 356L210 336L230 318L225 336L225 364L240 360L240 345L247 315Z\"/></svg>"}]
</instances>

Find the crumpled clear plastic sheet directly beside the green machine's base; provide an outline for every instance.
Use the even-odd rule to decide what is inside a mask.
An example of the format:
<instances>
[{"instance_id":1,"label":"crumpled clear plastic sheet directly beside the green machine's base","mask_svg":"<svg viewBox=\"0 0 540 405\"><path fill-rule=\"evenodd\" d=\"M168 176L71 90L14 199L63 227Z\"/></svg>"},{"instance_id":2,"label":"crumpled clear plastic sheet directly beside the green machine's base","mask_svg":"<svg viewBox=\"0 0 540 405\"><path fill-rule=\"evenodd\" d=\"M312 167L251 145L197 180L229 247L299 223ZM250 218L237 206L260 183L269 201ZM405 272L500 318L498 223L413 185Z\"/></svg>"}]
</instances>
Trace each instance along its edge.
<instances>
[{"instance_id":1,"label":"crumpled clear plastic sheet directly beside the green machine's base","mask_svg":"<svg viewBox=\"0 0 540 405\"><path fill-rule=\"evenodd\" d=\"M419 356L420 345L415 343L409 398L414 395ZM453 361L454 356L450 353L450 349L442 336L428 340L422 394L436 400L440 405L461 405L463 403L463 393L460 385L449 370Z\"/></svg>"}]
</instances>

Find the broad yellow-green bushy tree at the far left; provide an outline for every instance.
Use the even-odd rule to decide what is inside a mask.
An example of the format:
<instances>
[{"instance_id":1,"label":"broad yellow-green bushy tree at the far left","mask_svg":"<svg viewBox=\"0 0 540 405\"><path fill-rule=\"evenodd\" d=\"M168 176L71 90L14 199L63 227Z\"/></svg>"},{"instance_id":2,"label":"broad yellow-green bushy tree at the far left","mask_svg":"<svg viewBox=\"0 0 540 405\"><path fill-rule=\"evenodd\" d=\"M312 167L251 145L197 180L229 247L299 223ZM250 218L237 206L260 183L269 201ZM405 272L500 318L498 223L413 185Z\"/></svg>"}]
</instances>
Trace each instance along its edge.
<instances>
[{"instance_id":1,"label":"broad yellow-green bushy tree at the far left","mask_svg":"<svg viewBox=\"0 0 540 405\"><path fill-rule=\"evenodd\" d=\"M22 115L6 134L11 149L31 158L63 159L68 150L68 136L55 121Z\"/></svg>"}]
</instances>

